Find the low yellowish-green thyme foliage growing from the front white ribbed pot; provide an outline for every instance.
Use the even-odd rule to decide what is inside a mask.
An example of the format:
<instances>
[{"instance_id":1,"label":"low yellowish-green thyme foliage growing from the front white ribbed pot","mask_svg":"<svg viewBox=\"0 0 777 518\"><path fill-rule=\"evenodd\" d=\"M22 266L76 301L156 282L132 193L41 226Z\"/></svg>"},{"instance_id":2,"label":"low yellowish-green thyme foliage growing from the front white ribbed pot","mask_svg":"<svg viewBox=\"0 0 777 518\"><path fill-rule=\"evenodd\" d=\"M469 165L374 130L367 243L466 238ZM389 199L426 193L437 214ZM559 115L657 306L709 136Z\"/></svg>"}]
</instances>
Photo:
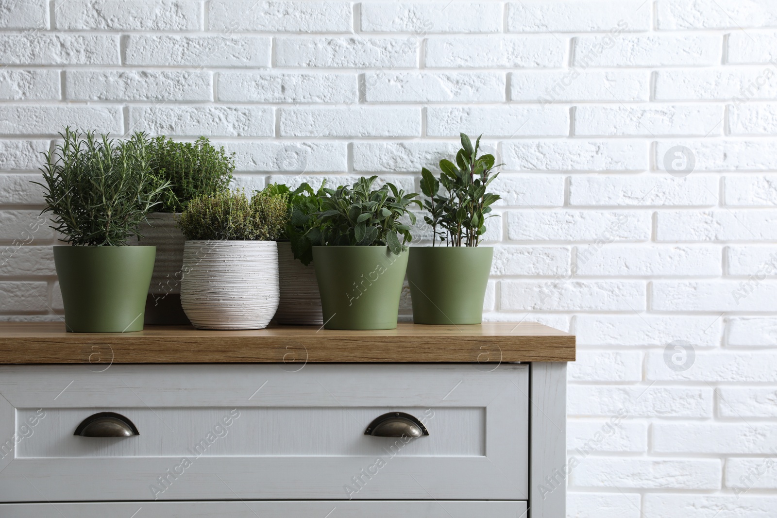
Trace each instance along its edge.
<instances>
[{"instance_id":1,"label":"low yellowish-green thyme foliage growing from the front white ribbed pot","mask_svg":"<svg viewBox=\"0 0 777 518\"><path fill-rule=\"evenodd\" d=\"M249 198L237 189L195 196L178 227L190 241L275 241L287 221L286 194L267 188Z\"/></svg>"}]
</instances>

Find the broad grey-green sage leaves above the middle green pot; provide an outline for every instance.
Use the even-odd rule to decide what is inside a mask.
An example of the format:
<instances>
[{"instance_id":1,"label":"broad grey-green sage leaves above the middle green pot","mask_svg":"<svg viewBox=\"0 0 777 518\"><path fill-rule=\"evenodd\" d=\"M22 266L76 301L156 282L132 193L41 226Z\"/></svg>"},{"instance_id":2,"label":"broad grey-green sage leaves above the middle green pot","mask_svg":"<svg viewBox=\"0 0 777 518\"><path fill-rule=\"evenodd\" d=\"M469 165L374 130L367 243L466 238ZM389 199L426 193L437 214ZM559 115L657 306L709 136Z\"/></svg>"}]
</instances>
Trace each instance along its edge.
<instances>
[{"instance_id":1,"label":"broad grey-green sage leaves above the middle green pot","mask_svg":"<svg viewBox=\"0 0 777 518\"><path fill-rule=\"evenodd\" d=\"M322 211L317 213L322 221L322 245L381 245L396 255L413 241L411 226L402 218L416 223L409 207L423 207L413 200L418 194L405 193L392 183L373 189L377 178L362 176L353 186L325 189L327 196L320 199Z\"/></svg>"}]
</instances>

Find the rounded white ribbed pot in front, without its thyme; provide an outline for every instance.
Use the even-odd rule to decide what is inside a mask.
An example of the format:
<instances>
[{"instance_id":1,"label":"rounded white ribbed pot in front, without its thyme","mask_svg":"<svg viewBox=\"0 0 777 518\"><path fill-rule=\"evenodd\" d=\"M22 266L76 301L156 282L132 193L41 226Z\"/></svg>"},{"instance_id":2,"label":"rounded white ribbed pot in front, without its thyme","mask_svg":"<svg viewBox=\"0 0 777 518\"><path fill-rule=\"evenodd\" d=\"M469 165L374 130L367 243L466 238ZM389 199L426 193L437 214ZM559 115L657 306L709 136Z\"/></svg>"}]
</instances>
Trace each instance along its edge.
<instances>
[{"instance_id":1,"label":"rounded white ribbed pot in front, without its thyme","mask_svg":"<svg viewBox=\"0 0 777 518\"><path fill-rule=\"evenodd\" d=\"M187 241L181 305L199 329L263 329L280 300L274 241Z\"/></svg>"}]
</instances>

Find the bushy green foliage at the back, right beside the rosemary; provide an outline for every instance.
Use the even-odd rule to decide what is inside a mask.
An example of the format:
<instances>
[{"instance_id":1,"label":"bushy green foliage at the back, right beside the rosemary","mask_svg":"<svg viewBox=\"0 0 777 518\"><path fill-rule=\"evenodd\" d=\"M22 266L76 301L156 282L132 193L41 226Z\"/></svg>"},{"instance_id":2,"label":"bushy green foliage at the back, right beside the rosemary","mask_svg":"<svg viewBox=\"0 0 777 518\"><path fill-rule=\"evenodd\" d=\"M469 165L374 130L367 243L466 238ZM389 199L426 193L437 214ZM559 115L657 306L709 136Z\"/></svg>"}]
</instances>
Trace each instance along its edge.
<instances>
[{"instance_id":1,"label":"bushy green foliage at the back, right beside the rosemary","mask_svg":"<svg viewBox=\"0 0 777 518\"><path fill-rule=\"evenodd\" d=\"M155 137L149 142L154 175L169 182L162 190L158 212L180 212L196 196L224 193L235 170L234 153L215 148L206 137L176 142Z\"/></svg>"}]
</instances>

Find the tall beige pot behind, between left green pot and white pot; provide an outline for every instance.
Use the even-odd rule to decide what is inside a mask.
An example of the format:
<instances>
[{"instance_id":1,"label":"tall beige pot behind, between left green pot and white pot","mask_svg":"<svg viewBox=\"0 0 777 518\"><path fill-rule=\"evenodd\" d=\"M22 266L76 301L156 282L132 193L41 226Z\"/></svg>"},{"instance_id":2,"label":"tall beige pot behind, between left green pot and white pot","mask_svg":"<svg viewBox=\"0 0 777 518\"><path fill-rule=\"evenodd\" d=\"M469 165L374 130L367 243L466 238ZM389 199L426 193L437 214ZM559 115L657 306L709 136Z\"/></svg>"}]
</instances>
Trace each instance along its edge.
<instances>
[{"instance_id":1,"label":"tall beige pot behind, between left green pot and white pot","mask_svg":"<svg viewBox=\"0 0 777 518\"><path fill-rule=\"evenodd\" d=\"M183 277L183 244L186 238L176 228L176 216L169 212L148 214L141 224L140 241L131 245L156 247L156 262L145 305L145 324L188 325L189 318L181 308L181 279Z\"/></svg>"}]
</instances>

